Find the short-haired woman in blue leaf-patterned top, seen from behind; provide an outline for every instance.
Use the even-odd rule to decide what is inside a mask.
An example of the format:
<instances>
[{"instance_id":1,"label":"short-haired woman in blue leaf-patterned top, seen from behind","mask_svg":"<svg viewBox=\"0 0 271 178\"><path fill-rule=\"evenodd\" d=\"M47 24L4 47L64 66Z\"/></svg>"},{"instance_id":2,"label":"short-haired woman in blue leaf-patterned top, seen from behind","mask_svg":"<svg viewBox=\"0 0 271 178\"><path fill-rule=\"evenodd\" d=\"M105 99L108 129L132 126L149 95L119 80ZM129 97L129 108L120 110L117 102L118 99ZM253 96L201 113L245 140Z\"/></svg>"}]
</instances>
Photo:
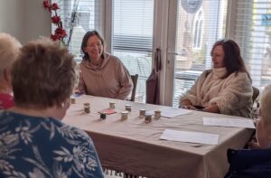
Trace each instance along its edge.
<instances>
[{"instance_id":1,"label":"short-haired woman in blue leaf-patterned top, seen from behind","mask_svg":"<svg viewBox=\"0 0 271 178\"><path fill-rule=\"evenodd\" d=\"M91 138L61 122L74 67L59 42L23 46L12 69L14 108L0 111L0 177L104 177Z\"/></svg>"}]
</instances>

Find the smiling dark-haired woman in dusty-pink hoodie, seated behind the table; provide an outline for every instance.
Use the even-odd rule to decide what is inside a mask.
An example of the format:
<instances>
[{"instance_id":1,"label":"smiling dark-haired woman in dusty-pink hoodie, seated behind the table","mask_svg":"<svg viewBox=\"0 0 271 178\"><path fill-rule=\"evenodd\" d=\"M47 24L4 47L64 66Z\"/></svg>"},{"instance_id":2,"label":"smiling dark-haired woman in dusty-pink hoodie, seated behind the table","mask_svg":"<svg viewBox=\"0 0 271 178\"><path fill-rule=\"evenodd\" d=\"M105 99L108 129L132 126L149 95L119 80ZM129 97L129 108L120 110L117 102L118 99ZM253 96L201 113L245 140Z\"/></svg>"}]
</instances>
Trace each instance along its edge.
<instances>
[{"instance_id":1,"label":"smiling dark-haired woman in dusty-pink hoodie, seated behind the table","mask_svg":"<svg viewBox=\"0 0 271 178\"><path fill-rule=\"evenodd\" d=\"M84 57L80 63L79 92L126 99L133 89L133 81L123 63L105 52L104 39L97 31L85 34L81 51Z\"/></svg>"}]
</instances>

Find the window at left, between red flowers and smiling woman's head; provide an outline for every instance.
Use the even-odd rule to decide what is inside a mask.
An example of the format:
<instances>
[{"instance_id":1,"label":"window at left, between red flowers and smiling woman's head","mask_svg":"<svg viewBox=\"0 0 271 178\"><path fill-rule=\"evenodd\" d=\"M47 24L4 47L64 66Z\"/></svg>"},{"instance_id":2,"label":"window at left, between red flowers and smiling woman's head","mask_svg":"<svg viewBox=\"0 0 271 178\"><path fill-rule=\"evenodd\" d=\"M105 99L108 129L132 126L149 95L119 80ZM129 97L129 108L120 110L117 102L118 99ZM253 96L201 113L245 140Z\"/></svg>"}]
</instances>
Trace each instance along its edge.
<instances>
[{"instance_id":1,"label":"window at left, between red flowers and smiling woman's head","mask_svg":"<svg viewBox=\"0 0 271 178\"><path fill-rule=\"evenodd\" d=\"M81 61L80 46L84 34L90 30L99 30L102 25L99 12L101 11L102 1L98 0L52 0L61 6L61 19L63 27L68 33L66 42L69 42L70 52L75 55L76 61ZM72 13L76 12L74 22L71 23ZM73 28L71 28L73 27ZM71 34L71 35L70 35Z\"/></svg>"}]
</instances>

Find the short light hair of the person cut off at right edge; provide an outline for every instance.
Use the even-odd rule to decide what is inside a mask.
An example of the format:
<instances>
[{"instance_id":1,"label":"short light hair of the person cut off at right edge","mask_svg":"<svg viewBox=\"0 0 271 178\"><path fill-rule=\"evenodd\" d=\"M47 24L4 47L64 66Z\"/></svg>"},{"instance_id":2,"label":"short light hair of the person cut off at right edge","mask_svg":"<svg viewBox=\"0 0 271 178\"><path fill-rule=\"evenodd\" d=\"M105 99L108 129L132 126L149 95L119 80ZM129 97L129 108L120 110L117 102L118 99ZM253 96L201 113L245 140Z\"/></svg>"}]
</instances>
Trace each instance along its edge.
<instances>
[{"instance_id":1,"label":"short light hair of the person cut off at right edge","mask_svg":"<svg viewBox=\"0 0 271 178\"><path fill-rule=\"evenodd\" d=\"M260 114L265 124L271 124L270 106L271 106L271 85L268 85L261 93L260 98L260 109L261 109Z\"/></svg>"}]
</instances>

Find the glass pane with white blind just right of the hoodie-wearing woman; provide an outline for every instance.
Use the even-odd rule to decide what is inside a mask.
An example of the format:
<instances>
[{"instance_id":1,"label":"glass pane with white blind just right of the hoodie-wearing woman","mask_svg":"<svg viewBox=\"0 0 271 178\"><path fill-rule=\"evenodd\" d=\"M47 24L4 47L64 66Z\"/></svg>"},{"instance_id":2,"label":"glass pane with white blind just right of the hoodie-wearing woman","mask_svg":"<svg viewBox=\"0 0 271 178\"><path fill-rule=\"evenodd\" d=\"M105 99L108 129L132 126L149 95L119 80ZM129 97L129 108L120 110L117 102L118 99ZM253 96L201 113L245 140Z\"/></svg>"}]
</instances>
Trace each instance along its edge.
<instances>
[{"instance_id":1,"label":"glass pane with white blind just right of the hoodie-wearing woman","mask_svg":"<svg viewBox=\"0 0 271 178\"><path fill-rule=\"evenodd\" d=\"M135 101L145 102L145 80L152 68L154 0L113 0L112 50L138 74Z\"/></svg>"}]
</instances>

